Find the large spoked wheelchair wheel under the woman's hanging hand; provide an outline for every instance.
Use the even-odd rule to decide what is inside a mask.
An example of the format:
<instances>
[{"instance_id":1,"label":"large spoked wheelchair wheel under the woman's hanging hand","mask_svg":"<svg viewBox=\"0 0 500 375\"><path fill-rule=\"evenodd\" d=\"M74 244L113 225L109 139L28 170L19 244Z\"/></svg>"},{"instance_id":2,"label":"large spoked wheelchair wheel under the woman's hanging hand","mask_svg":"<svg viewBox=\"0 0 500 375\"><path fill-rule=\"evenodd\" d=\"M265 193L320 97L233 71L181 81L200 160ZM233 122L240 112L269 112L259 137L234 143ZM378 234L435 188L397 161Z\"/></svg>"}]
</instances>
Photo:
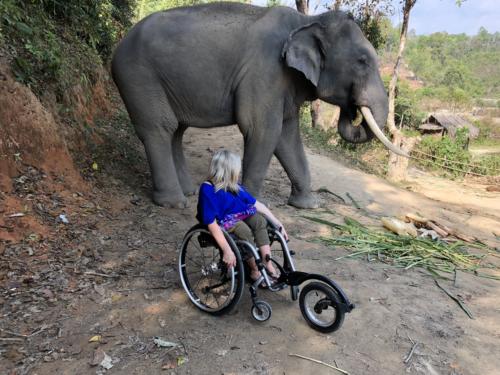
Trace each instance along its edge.
<instances>
[{"instance_id":1,"label":"large spoked wheelchair wheel under the woman's hanging hand","mask_svg":"<svg viewBox=\"0 0 500 375\"><path fill-rule=\"evenodd\" d=\"M228 268L222 251L206 227L189 230L179 254L181 282L191 302L214 315L229 312L241 299L245 285L243 261L234 241L226 236L236 256L236 266Z\"/></svg>"}]
</instances>

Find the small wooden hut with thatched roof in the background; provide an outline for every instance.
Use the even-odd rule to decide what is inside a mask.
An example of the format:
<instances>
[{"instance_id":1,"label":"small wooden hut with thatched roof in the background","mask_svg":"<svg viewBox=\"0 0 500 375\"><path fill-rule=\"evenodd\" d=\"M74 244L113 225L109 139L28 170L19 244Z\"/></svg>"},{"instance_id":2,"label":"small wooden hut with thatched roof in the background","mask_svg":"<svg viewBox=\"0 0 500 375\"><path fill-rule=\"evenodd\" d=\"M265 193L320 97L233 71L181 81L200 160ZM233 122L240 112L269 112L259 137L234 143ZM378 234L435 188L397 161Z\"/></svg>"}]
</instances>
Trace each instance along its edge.
<instances>
[{"instance_id":1,"label":"small wooden hut with thatched roof in the background","mask_svg":"<svg viewBox=\"0 0 500 375\"><path fill-rule=\"evenodd\" d=\"M469 129L469 139L479 136L479 129L476 126L453 113L433 113L418 127L422 134L439 134L441 136L448 134L452 138L455 137L457 129L462 128Z\"/></svg>"}]
</instances>

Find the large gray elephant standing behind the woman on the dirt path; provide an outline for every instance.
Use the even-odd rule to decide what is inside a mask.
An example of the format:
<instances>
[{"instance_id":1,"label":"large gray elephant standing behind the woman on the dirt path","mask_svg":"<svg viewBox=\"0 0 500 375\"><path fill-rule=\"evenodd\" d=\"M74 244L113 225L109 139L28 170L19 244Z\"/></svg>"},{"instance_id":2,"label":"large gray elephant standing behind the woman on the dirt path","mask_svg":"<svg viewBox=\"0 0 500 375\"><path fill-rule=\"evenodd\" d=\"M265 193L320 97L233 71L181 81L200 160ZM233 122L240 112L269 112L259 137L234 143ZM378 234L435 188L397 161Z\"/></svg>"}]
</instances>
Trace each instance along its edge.
<instances>
[{"instance_id":1,"label":"large gray elephant standing behind the woman on the dirt path","mask_svg":"<svg viewBox=\"0 0 500 375\"><path fill-rule=\"evenodd\" d=\"M238 124L243 185L259 196L272 155L292 183L288 203L316 206L299 134L299 108L321 99L341 107L339 133L361 143L359 106L383 126L387 94L375 50L341 12L305 16L286 7L212 3L158 12L116 49L113 78L146 149L153 199L184 207L196 191L182 151L187 127Z\"/></svg>"}]
</instances>

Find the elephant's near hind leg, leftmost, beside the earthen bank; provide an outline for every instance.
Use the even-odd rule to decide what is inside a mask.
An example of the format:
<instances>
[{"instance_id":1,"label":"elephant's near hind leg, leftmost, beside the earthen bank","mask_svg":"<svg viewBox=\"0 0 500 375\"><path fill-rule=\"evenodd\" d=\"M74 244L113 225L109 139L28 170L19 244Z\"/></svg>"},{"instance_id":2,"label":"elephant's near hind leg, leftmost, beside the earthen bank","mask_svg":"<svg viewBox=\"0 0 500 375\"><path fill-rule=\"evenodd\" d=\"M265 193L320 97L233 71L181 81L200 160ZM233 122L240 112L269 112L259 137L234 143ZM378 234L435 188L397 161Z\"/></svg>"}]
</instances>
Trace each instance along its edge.
<instances>
[{"instance_id":1,"label":"elephant's near hind leg, leftmost, beside the earthen bank","mask_svg":"<svg viewBox=\"0 0 500 375\"><path fill-rule=\"evenodd\" d=\"M178 121L158 81L144 73L135 72L118 85L122 98L144 144L153 177L153 200L160 206L186 206L172 156L172 141ZM138 83L140 84L134 84Z\"/></svg>"}]
</instances>

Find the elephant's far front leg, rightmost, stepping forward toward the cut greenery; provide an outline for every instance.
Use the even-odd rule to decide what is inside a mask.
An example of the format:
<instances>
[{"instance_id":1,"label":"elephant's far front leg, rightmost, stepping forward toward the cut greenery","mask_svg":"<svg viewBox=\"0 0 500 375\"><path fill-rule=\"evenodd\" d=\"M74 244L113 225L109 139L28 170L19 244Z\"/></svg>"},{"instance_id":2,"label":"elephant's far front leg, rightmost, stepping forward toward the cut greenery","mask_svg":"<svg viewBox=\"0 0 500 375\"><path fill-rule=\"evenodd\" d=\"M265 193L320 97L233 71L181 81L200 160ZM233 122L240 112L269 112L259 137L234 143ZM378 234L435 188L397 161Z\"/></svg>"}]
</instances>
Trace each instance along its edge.
<instances>
[{"instance_id":1,"label":"elephant's far front leg, rightmost, stepping forward toward the cut greenery","mask_svg":"<svg viewBox=\"0 0 500 375\"><path fill-rule=\"evenodd\" d=\"M318 202L311 193L311 175L300 139L298 114L284 121L274 153L292 183L288 204L297 208L317 208Z\"/></svg>"}]
</instances>

